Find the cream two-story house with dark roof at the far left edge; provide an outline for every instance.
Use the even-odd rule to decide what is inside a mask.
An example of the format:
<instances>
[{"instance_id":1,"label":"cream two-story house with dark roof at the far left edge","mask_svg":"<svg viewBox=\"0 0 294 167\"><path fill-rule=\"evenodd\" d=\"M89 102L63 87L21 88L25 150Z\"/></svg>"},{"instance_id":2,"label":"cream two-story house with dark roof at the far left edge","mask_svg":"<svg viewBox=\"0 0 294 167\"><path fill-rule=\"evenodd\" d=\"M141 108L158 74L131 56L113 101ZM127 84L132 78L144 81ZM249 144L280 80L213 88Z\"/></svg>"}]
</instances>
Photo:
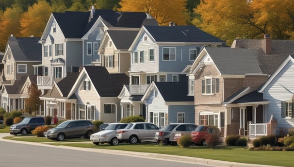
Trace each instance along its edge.
<instances>
[{"instance_id":1,"label":"cream two-story house with dark roof at the far left edge","mask_svg":"<svg viewBox=\"0 0 294 167\"><path fill-rule=\"evenodd\" d=\"M38 44L39 37L14 37L8 38L1 73L1 102L0 107L10 112L24 109L24 98L20 88L29 75L33 75L33 65L41 63L42 48ZM40 72L40 71L39 71Z\"/></svg>"}]
</instances>

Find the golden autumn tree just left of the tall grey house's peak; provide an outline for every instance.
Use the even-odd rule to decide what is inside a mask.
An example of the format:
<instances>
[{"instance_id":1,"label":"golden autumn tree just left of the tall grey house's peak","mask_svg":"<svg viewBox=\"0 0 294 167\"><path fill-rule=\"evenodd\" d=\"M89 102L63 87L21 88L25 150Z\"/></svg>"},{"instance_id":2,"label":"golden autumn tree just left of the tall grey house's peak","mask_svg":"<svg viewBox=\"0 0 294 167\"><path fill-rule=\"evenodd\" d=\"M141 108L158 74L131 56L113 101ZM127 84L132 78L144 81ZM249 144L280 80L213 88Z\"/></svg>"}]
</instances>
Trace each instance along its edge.
<instances>
[{"instance_id":1,"label":"golden autumn tree just left of the tall grey house's peak","mask_svg":"<svg viewBox=\"0 0 294 167\"><path fill-rule=\"evenodd\" d=\"M23 36L41 36L52 10L48 2L38 0L28 8L20 19L21 34Z\"/></svg>"}]
</instances>

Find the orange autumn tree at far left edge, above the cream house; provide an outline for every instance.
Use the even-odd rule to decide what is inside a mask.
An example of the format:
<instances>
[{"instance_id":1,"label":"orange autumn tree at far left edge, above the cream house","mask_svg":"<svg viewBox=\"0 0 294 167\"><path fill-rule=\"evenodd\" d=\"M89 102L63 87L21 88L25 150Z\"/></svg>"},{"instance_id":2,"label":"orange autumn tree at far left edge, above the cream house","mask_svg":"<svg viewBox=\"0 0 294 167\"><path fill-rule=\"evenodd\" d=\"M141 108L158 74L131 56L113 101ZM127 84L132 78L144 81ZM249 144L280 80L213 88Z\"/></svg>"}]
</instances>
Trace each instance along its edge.
<instances>
[{"instance_id":1,"label":"orange autumn tree at far left edge, above the cream house","mask_svg":"<svg viewBox=\"0 0 294 167\"><path fill-rule=\"evenodd\" d=\"M19 6L6 8L3 15L0 17L0 50L4 52L6 42L11 34L19 36L20 23L19 19L23 10Z\"/></svg>"}]
</instances>

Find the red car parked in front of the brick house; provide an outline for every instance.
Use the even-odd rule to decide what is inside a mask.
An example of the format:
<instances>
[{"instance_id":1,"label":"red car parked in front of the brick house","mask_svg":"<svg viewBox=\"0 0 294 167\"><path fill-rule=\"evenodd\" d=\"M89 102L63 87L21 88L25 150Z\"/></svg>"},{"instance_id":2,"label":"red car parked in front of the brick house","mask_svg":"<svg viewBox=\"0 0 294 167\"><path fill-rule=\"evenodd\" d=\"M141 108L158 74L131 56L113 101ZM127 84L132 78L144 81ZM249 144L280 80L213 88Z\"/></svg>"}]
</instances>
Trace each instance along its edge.
<instances>
[{"instance_id":1,"label":"red car parked in front of the brick house","mask_svg":"<svg viewBox=\"0 0 294 167\"><path fill-rule=\"evenodd\" d=\"M213 129L207 125L200 125L194 131L191 132L192 143L195 145L206 146L206 140L213 133Z\"/></svg>"}]
</instances>

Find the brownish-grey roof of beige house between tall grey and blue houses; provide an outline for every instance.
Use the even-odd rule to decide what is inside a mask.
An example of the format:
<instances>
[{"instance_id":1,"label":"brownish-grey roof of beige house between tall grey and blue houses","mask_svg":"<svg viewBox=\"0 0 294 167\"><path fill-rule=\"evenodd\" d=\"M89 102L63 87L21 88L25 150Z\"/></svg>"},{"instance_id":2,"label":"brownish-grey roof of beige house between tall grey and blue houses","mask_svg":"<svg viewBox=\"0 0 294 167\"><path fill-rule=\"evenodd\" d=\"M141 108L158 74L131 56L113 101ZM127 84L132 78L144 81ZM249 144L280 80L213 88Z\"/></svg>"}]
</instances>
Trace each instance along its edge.
<instances>
[{"instance_id":1,"label":"brownish-grey roof of beige house between tall grey and blue houses","mask_svg":"<svg viewBox=\"0 0 294 167\"><path fill-rule=\"evenodd\" d=\"M139 31L107 31L119 50L128 50Z\"/></svg>"}]
</instances>

